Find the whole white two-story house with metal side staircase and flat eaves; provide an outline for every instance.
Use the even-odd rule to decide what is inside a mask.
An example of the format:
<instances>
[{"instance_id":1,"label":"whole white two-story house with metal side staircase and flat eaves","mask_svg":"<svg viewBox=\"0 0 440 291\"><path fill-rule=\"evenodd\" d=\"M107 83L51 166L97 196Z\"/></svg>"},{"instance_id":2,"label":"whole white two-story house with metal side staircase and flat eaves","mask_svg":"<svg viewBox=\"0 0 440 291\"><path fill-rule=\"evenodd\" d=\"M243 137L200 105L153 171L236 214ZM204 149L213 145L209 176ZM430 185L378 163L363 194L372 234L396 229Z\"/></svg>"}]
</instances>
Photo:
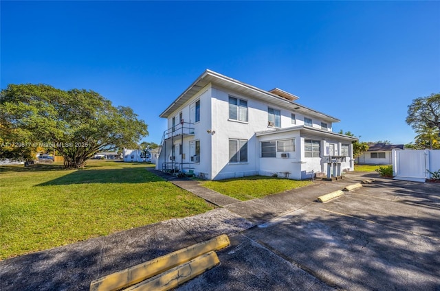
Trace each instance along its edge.
<instances>
[{"instance_id":1,"label":"whole white two-story house with metal side staircase and flat eaves","mask_svg":"<svg viewBox=\"0 0 440 291\"><path fill-rule=\"evenodd\" d=\"M358 139L332 132L338 119L297 99L206 70L160 115L168 129L156 168L208 180L256 174L300 180L327 173L338 156L342 170L353 170L351 142Z\"/></svg>"}]
</instances>

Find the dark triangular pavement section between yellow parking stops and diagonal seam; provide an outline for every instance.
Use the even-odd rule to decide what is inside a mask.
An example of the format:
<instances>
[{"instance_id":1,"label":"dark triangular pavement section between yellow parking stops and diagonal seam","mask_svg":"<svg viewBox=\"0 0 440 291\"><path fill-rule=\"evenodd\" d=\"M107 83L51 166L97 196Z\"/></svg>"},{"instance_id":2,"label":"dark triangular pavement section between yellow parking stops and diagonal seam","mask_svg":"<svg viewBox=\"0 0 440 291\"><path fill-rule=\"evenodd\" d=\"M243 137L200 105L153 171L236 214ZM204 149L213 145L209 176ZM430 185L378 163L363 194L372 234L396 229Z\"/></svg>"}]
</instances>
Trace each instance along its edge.
<instances>
[{"instance_id":1,"label":"dark triangular pavement section between yellow parking stops and diagonal seam","mask_svg":"<svg viewBox=\"0 0 440 291\"><path fill-rule=\"evenodd\" d=\"M177 288L195 290L333 290L245 235L218 251L220 265Z\"/></svg>"}]
</instances>

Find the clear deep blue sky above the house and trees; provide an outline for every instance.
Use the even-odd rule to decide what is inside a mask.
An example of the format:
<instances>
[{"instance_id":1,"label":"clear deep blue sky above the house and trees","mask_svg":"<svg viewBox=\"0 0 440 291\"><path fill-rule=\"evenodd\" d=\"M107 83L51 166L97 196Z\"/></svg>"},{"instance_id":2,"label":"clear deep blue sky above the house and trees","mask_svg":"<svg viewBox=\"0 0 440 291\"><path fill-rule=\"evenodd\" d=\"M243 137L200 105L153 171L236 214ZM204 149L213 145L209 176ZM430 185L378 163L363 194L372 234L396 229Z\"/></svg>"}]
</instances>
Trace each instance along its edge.
<instances>
[{"instance_id":1,"label":"clear deep blue sky above the house and trees","mask_svg":"<svg viewBox=\"0 0 440 291\"><path fill-rule=\"evenodd\" d=\"M416 97L440 92L438 1L1 1L1 89L91 89L159 114L205 69L337 117L333 131L408 143Z\"/></svg>"}]
</instances>

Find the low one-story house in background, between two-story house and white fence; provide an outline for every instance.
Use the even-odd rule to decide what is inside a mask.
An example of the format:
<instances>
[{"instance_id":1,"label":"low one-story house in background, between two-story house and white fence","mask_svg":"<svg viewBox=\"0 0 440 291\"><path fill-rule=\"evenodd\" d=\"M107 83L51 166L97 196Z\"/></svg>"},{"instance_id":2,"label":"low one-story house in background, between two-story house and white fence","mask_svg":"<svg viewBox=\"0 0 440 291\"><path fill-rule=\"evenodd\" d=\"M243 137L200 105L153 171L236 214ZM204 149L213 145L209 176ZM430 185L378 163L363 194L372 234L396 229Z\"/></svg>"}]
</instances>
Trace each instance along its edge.
<instances>
[{"instance_id":1,"label":"low one-story house in background, between two-story house and white fence","mask_svg":"<svg viewBox=\"0 0 440 291\"><path fill-rule=\"evenodd\" d=\"M404 145L369 143L369 150L358 156L355 161L360 165L391 165L393 163L391 151L403 149Z\"/></svg>"}]
</instances>

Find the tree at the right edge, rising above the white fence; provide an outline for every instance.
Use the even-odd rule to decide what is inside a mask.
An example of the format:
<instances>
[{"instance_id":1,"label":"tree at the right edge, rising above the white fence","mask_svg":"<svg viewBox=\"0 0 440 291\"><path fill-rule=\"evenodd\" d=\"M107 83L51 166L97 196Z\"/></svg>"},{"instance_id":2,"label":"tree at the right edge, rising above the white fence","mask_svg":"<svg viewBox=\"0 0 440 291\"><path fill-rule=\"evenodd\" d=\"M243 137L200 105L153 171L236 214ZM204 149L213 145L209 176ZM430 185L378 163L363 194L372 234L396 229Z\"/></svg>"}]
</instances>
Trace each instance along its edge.
<instances>
[{"instance_id":1,"label":"tree at the right edge, rising above the white fence","mask_svg":"<svg viewBox=\"0 0 440 291\"><path fill-rule=\"evenodd\" d=\"M440 93L412 100L406 123L416 131L437 128L440 136Z\"/></svg>"}]
</instances>

